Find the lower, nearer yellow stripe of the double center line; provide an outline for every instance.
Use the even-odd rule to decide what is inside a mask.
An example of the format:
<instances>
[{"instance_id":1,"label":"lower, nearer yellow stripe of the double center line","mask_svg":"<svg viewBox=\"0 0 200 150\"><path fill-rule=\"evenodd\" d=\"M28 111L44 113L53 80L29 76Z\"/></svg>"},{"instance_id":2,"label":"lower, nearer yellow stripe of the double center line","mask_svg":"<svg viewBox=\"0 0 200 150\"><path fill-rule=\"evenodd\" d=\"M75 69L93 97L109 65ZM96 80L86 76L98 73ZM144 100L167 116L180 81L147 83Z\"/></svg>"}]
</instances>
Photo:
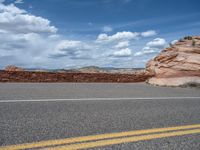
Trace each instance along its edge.
<instances>
[{"instance_id":1,"label":"lower, nearer yellow stripe of the double center line","mask_svg":"<svg viewBox=\"0 0 200 150\"><path fill-rule=\"evenodd\" d=\"M68 146L54 147L54 148L48 149L48 150L80 150L80 149L103 147L103 146L122 144L122 143L152 140L152 139L158 139L158 138L174 137L174 136L181 136L181 135L188 135L188 134L197 134L197 133L200 133L200 129L187 130L187 131L175 131L175 132L167 132L167 133L159 133L159 134L150 134L150 135L142 135L142 136L135 136L135 137L125 137L125 138L121 138L121 139L110 139L110 140L102 140L102 141L87 142L87 143L80 143L80 144L72 144L72 145L68 145Z\"/></svg>"}]
</instances>

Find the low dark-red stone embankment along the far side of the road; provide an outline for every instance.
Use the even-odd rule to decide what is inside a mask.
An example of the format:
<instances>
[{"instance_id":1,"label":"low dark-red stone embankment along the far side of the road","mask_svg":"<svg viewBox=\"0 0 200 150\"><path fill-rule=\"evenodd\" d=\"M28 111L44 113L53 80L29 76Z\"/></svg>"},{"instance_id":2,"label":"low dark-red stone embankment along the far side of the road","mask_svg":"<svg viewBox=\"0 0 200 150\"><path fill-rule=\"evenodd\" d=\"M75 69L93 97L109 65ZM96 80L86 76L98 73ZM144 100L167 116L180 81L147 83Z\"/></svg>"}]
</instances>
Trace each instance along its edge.
<instances>
[{"instance_id":1,"label":"low dark-red stone embankment along the far side of the road","mask_svg":"<svg viewBox=\"0 0 200 150\"><path fill-rule=\"evenodd\" d=\"M150 75L109 73L58 73L30 71L0 71L0 82L144 82Z\"/></svg>"}]
</instances>

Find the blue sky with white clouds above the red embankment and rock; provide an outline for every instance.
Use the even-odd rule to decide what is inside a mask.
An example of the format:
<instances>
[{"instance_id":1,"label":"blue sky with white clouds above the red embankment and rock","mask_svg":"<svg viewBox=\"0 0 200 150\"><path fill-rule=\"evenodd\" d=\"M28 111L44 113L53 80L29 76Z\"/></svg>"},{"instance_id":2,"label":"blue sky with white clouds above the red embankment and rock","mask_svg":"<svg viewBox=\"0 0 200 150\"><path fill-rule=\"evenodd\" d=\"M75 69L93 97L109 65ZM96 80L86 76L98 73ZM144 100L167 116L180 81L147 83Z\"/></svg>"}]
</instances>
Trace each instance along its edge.
<instances>
[{"instance_id":1,"label":"blue sky with white clouds above the red embankment and rock","mask_svg":"<svg viewBox=\"0 0 200 150\"><path fill-rule=\"evenodd\" d=\"M141 68L187 35L199 0L0 0L0 69Z\"/></svg>"}]
</instances>

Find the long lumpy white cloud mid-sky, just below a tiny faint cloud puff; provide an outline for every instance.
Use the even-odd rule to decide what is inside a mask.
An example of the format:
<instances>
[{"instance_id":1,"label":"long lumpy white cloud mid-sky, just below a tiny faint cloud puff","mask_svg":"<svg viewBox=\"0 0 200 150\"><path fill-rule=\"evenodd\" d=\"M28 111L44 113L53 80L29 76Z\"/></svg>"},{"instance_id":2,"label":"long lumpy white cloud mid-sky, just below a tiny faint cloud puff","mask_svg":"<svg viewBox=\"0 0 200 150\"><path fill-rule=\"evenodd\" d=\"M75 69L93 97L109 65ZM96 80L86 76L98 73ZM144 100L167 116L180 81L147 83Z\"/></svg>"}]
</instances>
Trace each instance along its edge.
<instances>
[{"instance_id":1,"label":"long lumpy white cloud mid-sky, just below a tiny faint cloud puff","mask_svg":"<svg viewBox=\"0 0 200 150\"><path fill-rule=\"evenodd\" d=\"M117 32L114 35L107 35L105 33L100 34L97 38L97 42L114 42L114 41L120 41L120 40L132 40L137 39L139 36L139 33L137 32L129 32L129 31L123 31L123 32Z\"/></svg>"}]
</instances>

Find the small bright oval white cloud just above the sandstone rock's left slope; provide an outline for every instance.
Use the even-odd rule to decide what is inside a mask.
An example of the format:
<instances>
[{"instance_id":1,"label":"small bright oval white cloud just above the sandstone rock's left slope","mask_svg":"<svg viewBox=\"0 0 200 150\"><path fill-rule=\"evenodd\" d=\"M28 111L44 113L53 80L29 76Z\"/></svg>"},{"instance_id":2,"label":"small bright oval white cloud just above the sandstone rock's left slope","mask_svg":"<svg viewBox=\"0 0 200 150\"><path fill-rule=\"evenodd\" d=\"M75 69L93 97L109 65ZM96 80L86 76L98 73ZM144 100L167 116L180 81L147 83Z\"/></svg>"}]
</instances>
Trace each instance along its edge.
<instances>
[{"instance_id":1,"label":"small bright oval white cloud just above the sandstone rock's left slope","mask_svg":"<svg viewBox=\"0 0 200 150\"><path fill-rule=\"evenodd\" d=\"M167 42L163 38L156 38L153 41L147 43L147 46L154 48L164 48L167 45Z\"/></svg>"}]
</instances>

